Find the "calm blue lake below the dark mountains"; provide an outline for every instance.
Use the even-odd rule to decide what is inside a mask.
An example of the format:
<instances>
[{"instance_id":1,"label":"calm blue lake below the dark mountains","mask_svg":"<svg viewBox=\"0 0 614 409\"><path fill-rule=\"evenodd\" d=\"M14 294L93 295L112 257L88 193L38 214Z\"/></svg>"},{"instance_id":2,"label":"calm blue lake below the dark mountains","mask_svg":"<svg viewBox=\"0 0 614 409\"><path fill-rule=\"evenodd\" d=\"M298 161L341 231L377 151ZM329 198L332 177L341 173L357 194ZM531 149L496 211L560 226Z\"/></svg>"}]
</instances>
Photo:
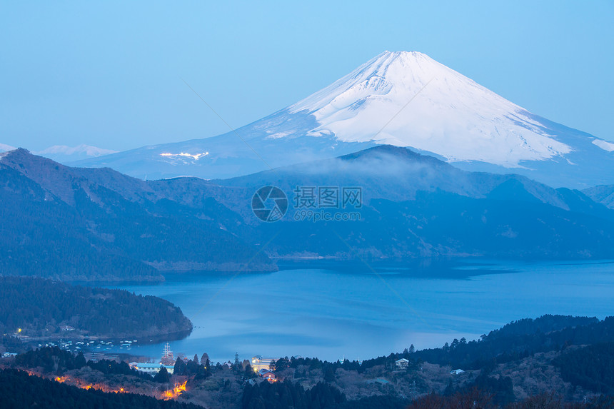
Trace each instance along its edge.
<instances>
[{"instance_id":1,"label":"calm blue lake below the dark mountains","mask_svg":"<svg viewBox=\"0 0 614 409\"><path fill-rule=\"evenodd\" d=\"M213 362L263 356L374 358L413 343L468 340L543 314L614 315L614 261L281 266L277 273L183 273L156 285L109 286L181 307L194 330L171 342ZM159 357L163 344L130 352Z\"/></svg>"}]
</instances>

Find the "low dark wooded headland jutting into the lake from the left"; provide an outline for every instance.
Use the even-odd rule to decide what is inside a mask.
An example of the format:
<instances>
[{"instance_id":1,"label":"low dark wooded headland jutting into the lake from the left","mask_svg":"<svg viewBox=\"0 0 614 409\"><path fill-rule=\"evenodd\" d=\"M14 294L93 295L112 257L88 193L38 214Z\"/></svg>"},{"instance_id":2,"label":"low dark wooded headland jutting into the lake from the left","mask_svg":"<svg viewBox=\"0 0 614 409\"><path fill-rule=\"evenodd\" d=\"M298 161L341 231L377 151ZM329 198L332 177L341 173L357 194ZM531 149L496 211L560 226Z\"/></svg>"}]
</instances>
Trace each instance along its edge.
<instances>
[{"instance_id":1,"label":"low dark wooded headland jutting into the lake from the left","mask_svg":"<svg viewBox=\"0 0 614 409\"><path fill-rule=\"evenodd\" d=\"M60 326L101 337L149 336L192 329L190 320L162 298L124 290L70 286L43 278L0 276L0 331L59 336ZM66 335L66 334L64 334Z\"/></svg>"}]
</instances>

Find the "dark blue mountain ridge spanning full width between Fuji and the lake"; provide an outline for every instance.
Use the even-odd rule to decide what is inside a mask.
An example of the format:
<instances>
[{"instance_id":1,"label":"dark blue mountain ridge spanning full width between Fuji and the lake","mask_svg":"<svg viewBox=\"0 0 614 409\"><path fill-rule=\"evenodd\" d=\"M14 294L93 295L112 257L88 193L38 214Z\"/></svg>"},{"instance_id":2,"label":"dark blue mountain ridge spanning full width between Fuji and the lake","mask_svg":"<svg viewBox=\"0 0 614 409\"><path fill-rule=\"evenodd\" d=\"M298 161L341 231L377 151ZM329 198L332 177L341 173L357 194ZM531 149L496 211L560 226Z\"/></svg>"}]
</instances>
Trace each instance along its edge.
<instances>
[{"instance_id":1,"label":"dark blue mountain ridge spanning full width between Fuji and the lake","mask_svg":"<svg viewBox=\"0 0 614 409\"><path fill-rule=\"evenodd\" d=\"M275 223L252 211L262 186L278 186L288 198L288 212ZM360 217L297 218L297 186L361 188L358 209L314 209ZM396 146L215 181L141 181L19 150L0 155L0 201L1 269L29 275L44 266L56 278L272 271L271 260L292 258L614 257L614 211L584 193L462 171Z\"/></svg>"}]
</instances>

